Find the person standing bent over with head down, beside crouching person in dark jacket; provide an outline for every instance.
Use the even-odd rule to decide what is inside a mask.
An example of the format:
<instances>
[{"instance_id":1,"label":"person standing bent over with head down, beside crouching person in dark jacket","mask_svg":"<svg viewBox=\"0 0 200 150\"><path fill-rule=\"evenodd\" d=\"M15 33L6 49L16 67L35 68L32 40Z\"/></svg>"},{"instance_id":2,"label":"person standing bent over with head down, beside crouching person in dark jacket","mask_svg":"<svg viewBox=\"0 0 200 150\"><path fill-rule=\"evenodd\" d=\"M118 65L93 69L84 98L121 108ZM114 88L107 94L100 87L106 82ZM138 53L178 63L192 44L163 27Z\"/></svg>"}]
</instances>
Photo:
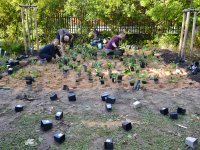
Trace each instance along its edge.
<instances>
[{"instance_id":1,"label":"person standing bent over with head down, beside crouching person in dark jacket","mask_svg":"<svg viewBox=\"0 0 200 150\"><path fill-rule=\"evenodd\" d=\"M69 48L73 48L73 38L74 36L69 32L69 30L65 28L58 30L56 39L59 40L62 54L64 54L64 43L69 43Z\"/></svg>"}]
</instances>

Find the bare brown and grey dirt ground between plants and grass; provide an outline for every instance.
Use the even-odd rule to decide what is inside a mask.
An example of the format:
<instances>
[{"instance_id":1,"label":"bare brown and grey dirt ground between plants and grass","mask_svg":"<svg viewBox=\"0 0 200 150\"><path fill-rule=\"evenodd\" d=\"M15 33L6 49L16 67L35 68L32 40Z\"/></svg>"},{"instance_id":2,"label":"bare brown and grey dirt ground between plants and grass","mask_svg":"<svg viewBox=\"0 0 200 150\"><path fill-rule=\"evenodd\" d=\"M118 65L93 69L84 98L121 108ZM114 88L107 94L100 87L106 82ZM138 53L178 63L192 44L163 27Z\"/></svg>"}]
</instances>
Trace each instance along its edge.
<instances>
[{"instance_id":1,"label":"bare brown and grey dirt ground between plants and grass","mask_svg":"<svg viewBox=\"0 0 200 150\"><path fill-rule=\"evenodd\" d=\"M120 62L116 62L116 65L120 66L121 64ZM36 69L41 73L40 77L33 83L32 89L27 87L24 80L10 76L6 76L0 80L0 85L11 88L10 90L0 90L0 135L1 133L14 130L16 120L25 114L54 114L57 110L63 110L64 116L68 114L81 115L87 113L94 114L94 117L102 114L107 115L105 102L101 101L100 97L103 92L108 92L116 97L112 114L117 115L118 118L113 121L101 122L95 120L88 121L87 117L82 117L81 119L79 118L82 125L87 127L106 126L107 128L114 128L120 126L123 120L130 120L135 125L142 125L142 122L137 118L143 111L148 110L159 114L159 108L161 107L168 107L170 111L175 111L177 107L183 107L187 110L189 116L196 115L197 119L199 119L200 83L190 79L184 68L180 68L179 80L176 83L169 83L169 76L175 70L164 69L167 67L165 64L160 64L160 66L158 68L146 68L150 74L159 74L159 83L155 84L153 80L148 80L147 84L141 84L141 90L135 91L129 85L126 75L123 76L122 83L112 83L107 77L105 84L101 85L97 77L94 77L94 81L91 83L86 79L85 73L82 73L82 80L80 83L76 83L73 70L70 70L67 78L64 78L62 71L58 69L56 64L50 63L46 66L37 64L29 65L27 68ZM106 74L106 70L104 71ZM62 90L63 85L68 85L70 90L76 93L76 102L68 101L68 92ZM50 100L49 96L52 92L57 93L57 101ZM27 97L33 99L28 99ZM141 110L133 108L133 102L136 100L142 103ZM15 113L14 107L17 104L24 105L23 113ZM198 121L200 125L200 120ZM35 132L42 137L43 141L35 149L51 149L55 145L52 134L56 131L56 127L65 131L65 127L69 126L72 126L70 122L56 123L51 132L43 133L39 129L38 123L38 127L35 127ZM200 135L198 135L200 133L199 130L192 133L200 138ZM2 139L3 137L0 136L0 140ZM93 139L92 142L90 141L89 149L102 149L103 141L104 138L102 137ZM129 149L128 146L126 149Z\"/></svg>"}]
</instances>

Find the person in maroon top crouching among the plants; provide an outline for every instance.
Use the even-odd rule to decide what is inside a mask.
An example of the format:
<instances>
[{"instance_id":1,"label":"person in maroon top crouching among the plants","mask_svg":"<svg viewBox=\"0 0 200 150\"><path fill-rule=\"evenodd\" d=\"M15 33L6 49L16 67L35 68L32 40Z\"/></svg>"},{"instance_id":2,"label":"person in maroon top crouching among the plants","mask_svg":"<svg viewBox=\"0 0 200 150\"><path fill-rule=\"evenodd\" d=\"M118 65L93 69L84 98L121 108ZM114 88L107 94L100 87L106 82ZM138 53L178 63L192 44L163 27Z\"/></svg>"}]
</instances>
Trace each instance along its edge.
<instances>
[{"instance_id":1,"label":"person in maroon top crouching among the plants","mask_svg":"<svg viewBox=\"0 0 200 150\"><path fill-rule=\"evenodd\" d=\"M125 33L120 32L118 35L112 37L105 46L105 52L107 55L114 55L118 49L119 42L125 38Z\"/></svg>"}]
</instances>

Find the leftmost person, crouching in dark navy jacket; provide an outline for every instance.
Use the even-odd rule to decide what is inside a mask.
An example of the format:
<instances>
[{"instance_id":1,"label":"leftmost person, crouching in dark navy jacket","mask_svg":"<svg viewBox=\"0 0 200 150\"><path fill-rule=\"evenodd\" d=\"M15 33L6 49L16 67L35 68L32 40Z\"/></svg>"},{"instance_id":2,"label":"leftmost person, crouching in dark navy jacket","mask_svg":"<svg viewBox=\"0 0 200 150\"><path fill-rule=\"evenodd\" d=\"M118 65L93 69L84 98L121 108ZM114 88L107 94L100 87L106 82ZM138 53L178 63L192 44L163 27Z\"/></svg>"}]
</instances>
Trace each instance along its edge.
<instances>
[{"instance_id":1,"label":"leftmost person, crouching in dark navy jacket","mask_svg":"<svg viewBox=\"0 0 200 150\"><path fill-rule=\"evenodd\" d=\"M59 41L55 39L51 44L46 45L39 51L39 58L46 59L50 62L52 58L56 59L56 54L61 57L61 53L58 49Z\"/></svg>"}]
</instances>

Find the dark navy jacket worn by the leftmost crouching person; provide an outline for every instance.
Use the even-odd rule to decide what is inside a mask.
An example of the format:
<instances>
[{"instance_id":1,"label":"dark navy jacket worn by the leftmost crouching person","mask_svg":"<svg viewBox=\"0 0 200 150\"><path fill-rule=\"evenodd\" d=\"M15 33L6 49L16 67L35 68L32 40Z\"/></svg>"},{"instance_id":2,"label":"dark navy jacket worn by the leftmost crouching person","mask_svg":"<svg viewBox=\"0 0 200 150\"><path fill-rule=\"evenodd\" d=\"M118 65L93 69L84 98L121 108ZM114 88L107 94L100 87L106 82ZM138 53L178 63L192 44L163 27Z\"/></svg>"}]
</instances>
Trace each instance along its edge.
<instances>
[{"instance_id":1,"label":"dark navy jacket worn by the leftmost crouching person","mask_svg":"<svg viewBox=\"0 0 200 150\"><path fill-rule=\"evenodd\" d=\"M53 44L48 44L45 47L43 47L40 52L40 54L47 54L50 55L53 58L56 58L56 54L60 57L61 53L57 47L55 47Z\"/></svg>"}]
</instances>

